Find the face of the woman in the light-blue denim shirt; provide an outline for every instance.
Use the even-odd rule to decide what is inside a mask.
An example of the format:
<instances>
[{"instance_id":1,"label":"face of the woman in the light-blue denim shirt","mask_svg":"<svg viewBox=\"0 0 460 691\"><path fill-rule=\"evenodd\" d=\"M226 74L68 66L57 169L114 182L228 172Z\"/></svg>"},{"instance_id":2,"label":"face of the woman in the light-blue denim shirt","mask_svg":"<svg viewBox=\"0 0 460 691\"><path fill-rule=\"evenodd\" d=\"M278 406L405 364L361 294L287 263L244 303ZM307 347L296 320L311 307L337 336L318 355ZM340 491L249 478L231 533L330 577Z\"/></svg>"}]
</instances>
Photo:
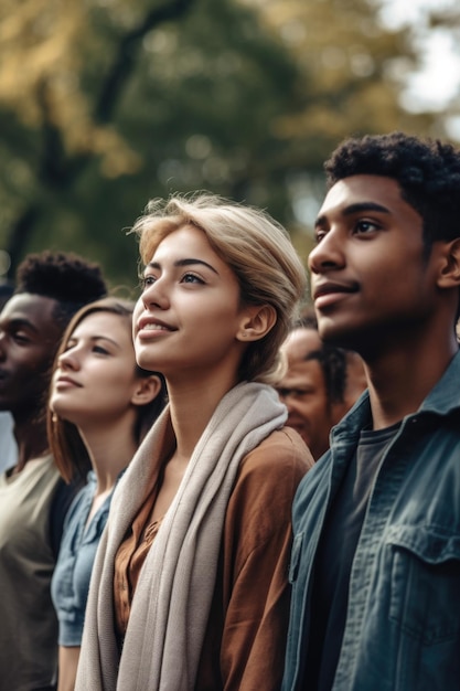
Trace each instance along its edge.
<instances>
[{"instance_id":1,"label":"face of the woman in the light-blue denim shirt","mask_svg":"<svg viewBox=\"0 0 460 691\"><path fill-rule=\"evenodd\" d=\"M83 429L111 424L130 410L138 383L129 320L93 312L76 326L58 359L51 407Z\"/></svg>"}]
</instances>

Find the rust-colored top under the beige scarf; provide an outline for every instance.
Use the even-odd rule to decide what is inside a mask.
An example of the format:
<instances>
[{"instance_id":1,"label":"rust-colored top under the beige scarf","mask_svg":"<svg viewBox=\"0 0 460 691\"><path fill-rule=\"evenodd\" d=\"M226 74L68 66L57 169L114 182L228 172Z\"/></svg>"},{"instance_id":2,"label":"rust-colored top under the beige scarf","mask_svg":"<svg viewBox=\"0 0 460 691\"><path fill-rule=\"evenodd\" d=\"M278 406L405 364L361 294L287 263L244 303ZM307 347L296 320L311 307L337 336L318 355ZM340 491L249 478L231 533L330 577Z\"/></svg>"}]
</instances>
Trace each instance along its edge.
<instances>
[{"instance_id":1,"label":"rust-colored top under the beige scarf","mask_svg":"<svg viewBox=\"0 0 460 691\"><path fill-rule=\"evenodd\" d=\"M225 517L211 614L196 680L200 691L279 690L289 618L291 504L313 459L285 427L240 463ZM146 497L116 561L117 632L124 637L130 603L160 522L146 527L157 498Z\"/></svg>"}]
</instances>

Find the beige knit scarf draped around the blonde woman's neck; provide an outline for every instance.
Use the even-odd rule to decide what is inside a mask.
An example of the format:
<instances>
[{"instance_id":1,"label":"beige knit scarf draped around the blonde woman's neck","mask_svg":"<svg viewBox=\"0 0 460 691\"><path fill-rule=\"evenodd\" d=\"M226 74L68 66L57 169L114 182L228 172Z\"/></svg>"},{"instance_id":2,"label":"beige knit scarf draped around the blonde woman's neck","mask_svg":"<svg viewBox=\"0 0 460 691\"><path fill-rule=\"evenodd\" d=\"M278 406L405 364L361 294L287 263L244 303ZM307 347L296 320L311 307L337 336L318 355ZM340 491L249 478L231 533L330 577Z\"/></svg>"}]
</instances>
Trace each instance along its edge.
<instances>
[{"instance_id":1,"label":"beige knit scarf draped around the blonde woman's neck","mask_svg":"<svg viewBox=\"0 0 460 691\"><path fill-rule=\"evenodd\" d=\"M170 425L169 408L163 412L113 498L93 571L76 691L194 689L239 463L285 421L285 406L265 384L239 384L221 401L141 570L120 658L114 560L152 481L152 467L160 470Z\"/></svg>"}]
</instances>

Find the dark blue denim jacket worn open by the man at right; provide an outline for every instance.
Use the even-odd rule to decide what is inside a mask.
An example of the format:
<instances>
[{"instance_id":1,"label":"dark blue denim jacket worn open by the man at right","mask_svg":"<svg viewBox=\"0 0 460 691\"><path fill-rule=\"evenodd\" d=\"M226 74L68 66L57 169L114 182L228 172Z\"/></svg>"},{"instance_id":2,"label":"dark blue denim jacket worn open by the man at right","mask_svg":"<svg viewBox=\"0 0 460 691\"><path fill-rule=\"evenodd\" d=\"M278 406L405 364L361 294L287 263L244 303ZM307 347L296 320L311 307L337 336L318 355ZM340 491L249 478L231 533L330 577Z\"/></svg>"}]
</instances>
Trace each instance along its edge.
<instances>
[{"instance_id":1,"label":"dark blue denim jacket worn open by the man at right","mask_svg":"<svg viewBox=\"0 0 460 691\"><path fill-rule=\"evenodd\" d=\"M360 432L365 392L293 502L292 584L282 689L308 689L314 555ZM350 575L333 691L460 689L460 353L403 421L378 467Z\"/></svg>"}]
</instances>

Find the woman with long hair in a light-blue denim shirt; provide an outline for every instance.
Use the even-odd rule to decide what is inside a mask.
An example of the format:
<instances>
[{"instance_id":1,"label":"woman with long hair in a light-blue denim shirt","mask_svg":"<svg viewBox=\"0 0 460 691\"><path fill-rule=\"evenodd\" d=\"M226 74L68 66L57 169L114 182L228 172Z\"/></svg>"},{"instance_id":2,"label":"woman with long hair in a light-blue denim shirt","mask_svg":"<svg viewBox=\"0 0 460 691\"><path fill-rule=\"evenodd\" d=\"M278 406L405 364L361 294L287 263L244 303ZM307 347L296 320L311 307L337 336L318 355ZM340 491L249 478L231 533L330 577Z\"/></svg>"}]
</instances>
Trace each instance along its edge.
<instances>
[{"instance_id":1,"label":"woman with long hair in a light-blue denim shirt","mask_svg":"<svg viewBox=\"0 0 460 691\"><path fill-rule=\"evenodd\" d=\"M131 302L105 298L82 308L57 352L50 446L64 480L86 475L74 499L52 578L58 629L58 691L72 691L89 578L111 495L165 403L160 375L137 365Z\"/></svg>"}]
</instances>

